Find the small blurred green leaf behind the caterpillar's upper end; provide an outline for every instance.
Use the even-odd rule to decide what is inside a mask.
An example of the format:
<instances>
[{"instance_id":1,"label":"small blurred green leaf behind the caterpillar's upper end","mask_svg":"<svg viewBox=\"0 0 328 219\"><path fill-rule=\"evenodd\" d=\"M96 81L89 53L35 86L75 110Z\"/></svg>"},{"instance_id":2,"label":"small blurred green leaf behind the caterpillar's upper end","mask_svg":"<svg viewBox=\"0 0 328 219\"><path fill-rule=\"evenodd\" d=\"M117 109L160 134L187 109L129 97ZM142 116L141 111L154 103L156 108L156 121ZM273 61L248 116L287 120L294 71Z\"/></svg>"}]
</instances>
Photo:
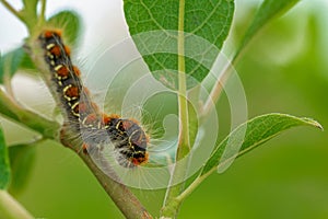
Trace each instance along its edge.
<instances>
[{"instance_id":1,"label":"small blurred green leaf behind the caterpillar's upper end","mask_svg":"<svg viewBox=\"0 0 328 219\"><path fill-rule=\"evenodd\" d=\"M72 11L61 11L48 20L48 23L55 27L63 30L63 37L66 42L74 46L78 42L81 22L80 16Z\"/></svg>"}]
</instances>

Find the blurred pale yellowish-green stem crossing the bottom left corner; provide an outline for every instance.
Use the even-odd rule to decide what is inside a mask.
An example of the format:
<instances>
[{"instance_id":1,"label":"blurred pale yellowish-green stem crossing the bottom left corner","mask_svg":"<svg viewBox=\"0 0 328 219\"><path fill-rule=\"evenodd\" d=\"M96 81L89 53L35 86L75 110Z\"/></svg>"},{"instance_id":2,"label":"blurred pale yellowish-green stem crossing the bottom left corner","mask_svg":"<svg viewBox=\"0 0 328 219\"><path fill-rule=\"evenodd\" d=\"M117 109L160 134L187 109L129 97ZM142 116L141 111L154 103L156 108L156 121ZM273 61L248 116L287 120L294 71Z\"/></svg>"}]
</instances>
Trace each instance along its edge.
<instances>
[{"instance_id":1,"label":"blurred pale yellowish-green stem crossing the bottom left corner","mask_svg":"<svg viewBox=\"0 0 328 219\"><path fill-rule=\"evenodd\" d=\"M33 219L34 217L7 191L0 191L0 218Z\"/></svg>"}]
</instances>

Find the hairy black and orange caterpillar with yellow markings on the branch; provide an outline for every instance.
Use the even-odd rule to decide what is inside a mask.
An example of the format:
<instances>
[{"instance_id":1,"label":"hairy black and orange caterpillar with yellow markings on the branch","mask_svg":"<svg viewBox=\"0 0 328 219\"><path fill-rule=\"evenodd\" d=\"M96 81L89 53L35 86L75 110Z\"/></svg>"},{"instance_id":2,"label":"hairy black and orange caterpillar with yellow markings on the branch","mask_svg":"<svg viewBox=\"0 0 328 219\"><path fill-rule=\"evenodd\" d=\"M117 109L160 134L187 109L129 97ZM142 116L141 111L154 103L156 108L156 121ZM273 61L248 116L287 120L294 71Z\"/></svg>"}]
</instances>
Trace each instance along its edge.
<instances>
[{"instance_id":1,"label":"hairy black and orange caterpillar with yellow markings on the branch","mask_svg":"<svg viewBox=\"0 0 328 219\"><path fill-rule=\"evenodd\" d=\"M80 78L80 70L70 58L70 49L63 44L61 32L46 30L38 36L44 60L51 72L55 93L62 103L68 119L84 134L84 147L114 146L116 160L125 168L148 162L148 136L134 119L99 112ZM78 123L77 123L78 122Z\"/></svg>"}]
</instances>

